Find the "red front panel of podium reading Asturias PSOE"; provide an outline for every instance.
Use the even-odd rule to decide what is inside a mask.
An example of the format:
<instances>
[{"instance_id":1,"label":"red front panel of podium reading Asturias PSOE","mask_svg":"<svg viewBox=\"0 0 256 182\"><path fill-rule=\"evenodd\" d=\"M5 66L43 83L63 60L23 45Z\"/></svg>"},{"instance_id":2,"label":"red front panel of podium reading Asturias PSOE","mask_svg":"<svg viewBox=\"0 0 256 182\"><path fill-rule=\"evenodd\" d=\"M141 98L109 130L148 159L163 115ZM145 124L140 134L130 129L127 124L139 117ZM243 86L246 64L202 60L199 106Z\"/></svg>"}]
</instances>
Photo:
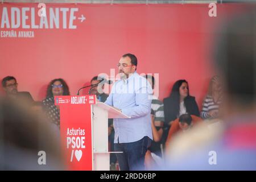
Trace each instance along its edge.
<instances>
[{"instance_id":1,"label":"red front panel of podium reading Asturias PSOE","mask_svg":"<svg viewBox=\"0 0 256 182\"><path fill-rule=\"evenodd\" d=\"M91 105L96 96L57 96L60 135L68 170L93 170Z\"/></svg>"}]
</instances>

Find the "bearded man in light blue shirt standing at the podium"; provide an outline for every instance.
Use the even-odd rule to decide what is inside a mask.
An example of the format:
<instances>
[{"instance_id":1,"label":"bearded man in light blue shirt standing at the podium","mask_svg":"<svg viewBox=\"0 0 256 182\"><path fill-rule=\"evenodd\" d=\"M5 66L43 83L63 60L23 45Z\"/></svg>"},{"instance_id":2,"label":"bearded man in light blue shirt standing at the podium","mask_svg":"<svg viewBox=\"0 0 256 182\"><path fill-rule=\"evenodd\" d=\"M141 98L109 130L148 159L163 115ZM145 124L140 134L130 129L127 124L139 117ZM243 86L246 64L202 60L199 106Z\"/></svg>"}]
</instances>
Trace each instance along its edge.
<instances>
[{"instance_id":1,"label":"bearded man in light blue shirt standing at the podium","mask_svg":"<svg viewBox=\"0 0 256 182\"><path fill-rule=\"evenodd\" d=\"M127 53L117 64L120 80L115 82L105 104L115 107L128 119L114 119L114 150L122 171L144 169L144 158L152 140L152 88L136 72L137 57Z\"/></svg>"}]
</instances>

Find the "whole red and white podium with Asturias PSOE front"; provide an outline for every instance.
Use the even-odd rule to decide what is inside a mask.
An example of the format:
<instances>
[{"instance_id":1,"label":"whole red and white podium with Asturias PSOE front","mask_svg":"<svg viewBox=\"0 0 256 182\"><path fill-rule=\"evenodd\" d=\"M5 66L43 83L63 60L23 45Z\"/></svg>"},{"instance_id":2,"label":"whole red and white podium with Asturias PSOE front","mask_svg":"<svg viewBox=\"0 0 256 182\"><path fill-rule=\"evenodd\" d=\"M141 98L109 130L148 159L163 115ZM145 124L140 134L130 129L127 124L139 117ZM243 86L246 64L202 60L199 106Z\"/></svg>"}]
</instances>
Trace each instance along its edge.
<instances>
[{"instance_id":1,"label":"whole red and white podium with Asturias PSOE front","mask_svg":"<svg viewBox=\"0 0 256 182\"><path fill-rule=\"evenodd\" d=\"M56 96L61 151L68 170L109 170L108 118L129 118L95 95Z\"/></svg>"}]
</instances>

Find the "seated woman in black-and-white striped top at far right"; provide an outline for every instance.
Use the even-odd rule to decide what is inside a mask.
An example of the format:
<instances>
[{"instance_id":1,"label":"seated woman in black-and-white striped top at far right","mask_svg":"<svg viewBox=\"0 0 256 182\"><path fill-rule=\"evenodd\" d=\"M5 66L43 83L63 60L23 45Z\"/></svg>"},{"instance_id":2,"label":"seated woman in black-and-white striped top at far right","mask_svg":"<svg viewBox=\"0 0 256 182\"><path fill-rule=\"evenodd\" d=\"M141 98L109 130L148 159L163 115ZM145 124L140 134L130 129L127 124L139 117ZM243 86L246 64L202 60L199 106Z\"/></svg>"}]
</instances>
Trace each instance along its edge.
<instances>
[{"instance_id":1,"label":"seated woman in black-and-white striped top at far right","mask_svg":"<svg viewBox=\"0 0 256 182\"><path fill-rule=\"evenodd\" d=\"M209 84L208 94L204 99L201 111L201 118L216 119L219 115L219 106L221 104L221 86L218 76L212 77Z\"/></svg>"}]
</instances>

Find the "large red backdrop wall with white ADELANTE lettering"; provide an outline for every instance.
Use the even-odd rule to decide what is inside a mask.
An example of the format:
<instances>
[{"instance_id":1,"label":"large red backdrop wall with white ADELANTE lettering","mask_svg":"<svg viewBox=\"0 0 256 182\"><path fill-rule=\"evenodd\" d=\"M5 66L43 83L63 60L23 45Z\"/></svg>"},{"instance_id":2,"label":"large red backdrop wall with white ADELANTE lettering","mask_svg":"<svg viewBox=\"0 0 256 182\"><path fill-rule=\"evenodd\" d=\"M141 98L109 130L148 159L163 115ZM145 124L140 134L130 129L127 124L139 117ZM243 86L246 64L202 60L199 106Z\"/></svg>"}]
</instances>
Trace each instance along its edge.
<instances>
[{"instance_id":1,"label":"large red backdrop wall with white ADELANTE lettering","mask_svg":"<svg viewBox=\"0 0 256 182\"><path fill-rule=\"evenodd\" d=\"M39 24L37 3L0 4L7 7L11 24L11 7L34 7L35 23ZM1 31L34 31L34 38L0 37L0 78L15 76L19 91L31 92L35 100L46 95L46 86L53 78L64 78L71 94L98 75L116 68L120 57L127 52L138 57L138 73L159 73L159 98L170 93L178 79L189 82L190 93L197 103L205 96L214 69L210 53L214 32L222 19L244 10L243 5L218 5L217 17L209 17L204 5L89 5L46 4L49 8L78 8L74 13L75 29L63 28L7 28ZM69 13L67 24L69 24ZM26 24L31 26L31 9L26 11ZM83 22L78 19L85 16ZM6 18L6 17L5 17ZM22 20L20 20L22 21ZM20 22L21 26L22 22ZM48 19L49 24L49 19ZM18 35L17 35L18 36ZM117 69L115 69L117 73Z\"/></svg>"}]
</instances>

